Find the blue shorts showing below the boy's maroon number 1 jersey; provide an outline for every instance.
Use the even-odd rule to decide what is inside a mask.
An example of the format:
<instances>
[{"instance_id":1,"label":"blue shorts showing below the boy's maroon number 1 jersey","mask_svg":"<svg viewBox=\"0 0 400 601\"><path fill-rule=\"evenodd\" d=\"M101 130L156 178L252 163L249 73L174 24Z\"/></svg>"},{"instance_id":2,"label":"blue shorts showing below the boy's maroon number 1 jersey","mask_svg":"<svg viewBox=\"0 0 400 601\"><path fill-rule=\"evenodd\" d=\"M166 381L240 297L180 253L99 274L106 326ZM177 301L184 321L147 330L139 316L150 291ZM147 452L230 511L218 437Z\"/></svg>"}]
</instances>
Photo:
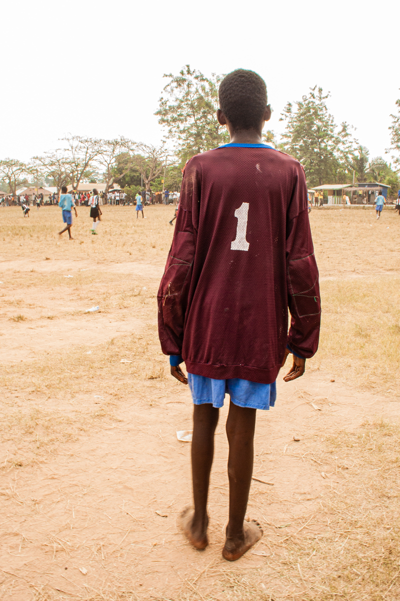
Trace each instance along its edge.
<instances>
[{"instance_id":1,"label":"blue shorts showing below the boy's maroon number 1 jersey","mask_svg":"<svg viewBox=\"0 0 400 601\"><path fill-rule=\"evenodd\" d=\"M230 395L232 403L249 409L269 409L275 405L276 383L260 384L232 378L215 380L205 376L188 373L188 384L195 405L212 403L219 409L224 406L225 394Z\"/></svg>"}]
</instances>

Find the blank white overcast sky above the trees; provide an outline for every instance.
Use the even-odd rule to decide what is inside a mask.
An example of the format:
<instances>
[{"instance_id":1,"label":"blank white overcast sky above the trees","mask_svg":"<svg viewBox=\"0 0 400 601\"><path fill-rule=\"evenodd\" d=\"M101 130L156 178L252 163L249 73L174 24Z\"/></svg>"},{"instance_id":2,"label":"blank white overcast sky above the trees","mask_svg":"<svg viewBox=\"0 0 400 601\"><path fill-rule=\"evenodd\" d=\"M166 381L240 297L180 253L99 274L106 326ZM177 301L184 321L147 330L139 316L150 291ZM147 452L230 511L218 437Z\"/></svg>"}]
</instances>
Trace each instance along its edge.
<instances>
[{"instance_id":1,"label":"blank white overcast sky above the trees","mask_svg":"<svg viewBox=\"0 0 400 601\"><path fill-rule=\"evenodd\" d=\"M164 73L252 69L279 132L285 103L330 91L370 156L400 97L395 0L11 0L1 3L0 158L29 160L65 133L157 144ZM388 159L388 156L386 156Z\"/></svg>"}]
</instances>

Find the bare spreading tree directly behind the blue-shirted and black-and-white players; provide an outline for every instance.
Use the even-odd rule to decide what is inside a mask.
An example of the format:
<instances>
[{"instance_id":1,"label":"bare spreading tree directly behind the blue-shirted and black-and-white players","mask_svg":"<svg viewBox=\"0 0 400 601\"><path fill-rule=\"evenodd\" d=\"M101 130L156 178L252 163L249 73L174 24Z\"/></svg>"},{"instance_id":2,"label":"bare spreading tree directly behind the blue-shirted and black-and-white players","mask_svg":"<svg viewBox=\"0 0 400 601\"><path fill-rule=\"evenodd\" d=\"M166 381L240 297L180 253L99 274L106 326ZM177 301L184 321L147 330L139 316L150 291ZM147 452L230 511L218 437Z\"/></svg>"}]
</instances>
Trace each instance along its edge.
<instances>
[{"instance_id":1,"label":"bare spreading tree directly behind the blue-shirted and black-and-white players","mask_svg":"<svg viewBox=\"0 0 400 601\"><path fill-rule=\"evenodd\" d=\"M92 163L100 154L101 143L97 138L69 135L61 138L67 142L65 152L70 159L70 178L74 189L77 189L85 173L90 171Z\"/></svg>"}]
</instances>

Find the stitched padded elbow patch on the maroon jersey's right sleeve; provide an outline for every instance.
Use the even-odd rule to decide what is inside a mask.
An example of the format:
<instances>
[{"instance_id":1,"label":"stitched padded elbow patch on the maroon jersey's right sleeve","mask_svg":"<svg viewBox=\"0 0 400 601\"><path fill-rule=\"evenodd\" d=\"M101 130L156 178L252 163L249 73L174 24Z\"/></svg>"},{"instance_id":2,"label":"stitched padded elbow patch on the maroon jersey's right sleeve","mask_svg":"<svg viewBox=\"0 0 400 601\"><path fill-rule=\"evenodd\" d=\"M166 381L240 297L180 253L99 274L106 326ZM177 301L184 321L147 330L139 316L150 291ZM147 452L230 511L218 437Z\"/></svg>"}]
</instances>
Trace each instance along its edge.
<instances>
[{"instance_id":1,"label":"stitched padded elbow patch on the maroon jersey's right sleeve","mask_svg":"<svg viewBox=\"0 0 400 601\"><path fill-rule=\"evenodd\" d=\"M293 302L291 313L299 317L318 315L321 312L321 299L314 253L288 261L287 278L288 292Z\"/></svg>"}]
</instances>

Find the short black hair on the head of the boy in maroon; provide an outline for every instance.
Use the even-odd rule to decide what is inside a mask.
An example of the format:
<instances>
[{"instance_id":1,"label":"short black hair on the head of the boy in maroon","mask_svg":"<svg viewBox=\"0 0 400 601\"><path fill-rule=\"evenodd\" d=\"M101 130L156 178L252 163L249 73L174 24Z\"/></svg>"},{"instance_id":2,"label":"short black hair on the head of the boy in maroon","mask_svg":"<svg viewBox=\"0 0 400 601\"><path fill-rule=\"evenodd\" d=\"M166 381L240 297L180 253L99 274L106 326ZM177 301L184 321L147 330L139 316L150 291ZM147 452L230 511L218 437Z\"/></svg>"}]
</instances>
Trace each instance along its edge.
<instances>
[{"instance_id":1,"label":"short black hair on the head of the boy in maroon","mask_svg":"<svg viewBox=\"0 0 400 601\"><path fill-rule=\"evenodd\" d=\"M219 106L234 130L258 129L267 107L267 88L254 71L236 69L219 86Z\"/></svg>"}]
</instances>

